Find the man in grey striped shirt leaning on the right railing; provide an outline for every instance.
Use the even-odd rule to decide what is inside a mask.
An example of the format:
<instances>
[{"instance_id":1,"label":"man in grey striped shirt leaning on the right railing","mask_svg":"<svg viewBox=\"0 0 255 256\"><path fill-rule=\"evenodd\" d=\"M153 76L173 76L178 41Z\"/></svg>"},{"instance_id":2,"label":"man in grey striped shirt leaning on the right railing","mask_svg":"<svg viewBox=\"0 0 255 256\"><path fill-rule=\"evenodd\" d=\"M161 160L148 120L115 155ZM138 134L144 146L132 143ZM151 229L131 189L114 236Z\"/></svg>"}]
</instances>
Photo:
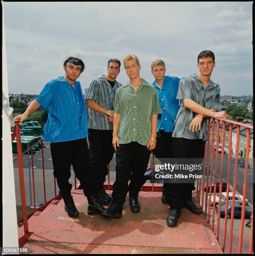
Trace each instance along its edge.
<instances>
[{"instance_id":1,"label":"man in grey striped shirt leaning on the right railing","mask_svg":"<svg viewBox=\"0 0 255 256\"><path fill-rule=\"evenodd\" d=\"M202 51L198 55L197 62L199 73L183 77L176 96L176 99L179 99L179 111L172 134L175 159L202 159L204 143L207 140L207 118L227 118L227 114L220 111L219 84L215 84L210 79L216 64L214 53ZM191 180L189 182L167 184L167 198L171 209L166 223L170 227L177 225L182 207L194 214L201 214L200 208L192 201L194 182Z\"/></svg>"}]
</instances>

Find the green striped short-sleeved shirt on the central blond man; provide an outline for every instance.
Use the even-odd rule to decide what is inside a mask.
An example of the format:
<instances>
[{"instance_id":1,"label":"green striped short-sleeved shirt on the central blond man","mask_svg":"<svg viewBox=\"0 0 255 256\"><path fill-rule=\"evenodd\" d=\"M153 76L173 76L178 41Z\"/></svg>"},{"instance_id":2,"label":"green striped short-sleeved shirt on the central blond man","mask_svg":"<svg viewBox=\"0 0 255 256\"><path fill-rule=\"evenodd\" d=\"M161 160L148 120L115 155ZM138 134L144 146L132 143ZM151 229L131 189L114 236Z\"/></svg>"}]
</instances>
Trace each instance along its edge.
<instances>
[{"instance_id":1,"label":"green striped short-sleeved shirt on the central blond man","mask_svg":"<svg viewBox=\"0 0 255 256\"><path fill-rule=\"evenodd\" d=\"M151 115L162 111L156 89L142 79L136 92L130 82L117 89L114 112L120 114L120 144L137 141L147 146L151 136Z\"/></svg>"}]
</instances>

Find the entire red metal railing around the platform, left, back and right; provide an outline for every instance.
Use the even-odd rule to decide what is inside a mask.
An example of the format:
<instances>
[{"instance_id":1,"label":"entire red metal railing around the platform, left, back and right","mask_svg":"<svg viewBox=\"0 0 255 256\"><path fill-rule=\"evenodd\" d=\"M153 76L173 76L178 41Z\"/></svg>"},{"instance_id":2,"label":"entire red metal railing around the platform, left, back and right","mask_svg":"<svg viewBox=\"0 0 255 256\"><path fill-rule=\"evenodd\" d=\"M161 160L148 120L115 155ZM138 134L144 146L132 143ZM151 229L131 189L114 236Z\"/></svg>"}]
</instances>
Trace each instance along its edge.
<instances>
[{"instance_id":1,"label":"entire red metal railing around the platform, left, back and right","mask_svg":"<svg viewBox=\"0 0 255 256\"><path fill-rule=\"evenodd\" d=\"M211 228L214 231L217 240L219 241L219 238L223 238L222 240L222 250L225 251L226 247L226 238L227 238L227 207L225 207L225 218L224 218L224 227L223 227L223 234L220 236L220 210L218 212L217 216L217 227L215 232L215 210L216 210L216 203L215 203L215 195L217 191L217 169L218 169L218 158L219 158L219 135L220 130L219 126L220 123L222 123L222 154L221 154L221 164L220 164L220 183L219 183L219 205L218 208L221 209L221 198L222 198L222 184L223 184L223 169L224 169L224 147L225 147L225 137L226 137L226 123L230 124L230 133L229 133L229 145L230 150L228 152L228 166L227 166L227 198L226 198L226 205L228 205L228 195L230 192L230 173L231 173L231 145L232 145L232 125L237 125L237 142L236 142L236 152L235 152L235 168L234 168L234 182L233 182L233 200L232 200L232 209L235 207L235 193L236 193L236 186L237 186L237 159L238 159L238 151L239 151L239 138L240 138L240 127L245 127L247 129L246 134L246 151L245 151L245 171L244 171L244 186L243 186L243 200L242 200L242 215L241 215L241 224L240 224L240 236L238 241L238 253L242 253L242 242L243 242L243 232L244 232L244 220L245 220L245 198L247 194L247 173L248 173L248 158L249 158L249 147L250 147L250 129L253 129L253 126L246 125L243 123L237 123L231 120L224 120L224 119L217 119L217 133L216 133L216 154L215 154L215 169L213 169L213 160L214 160L214 132L215 132L215 119L212 119L212 137L210 134L211 131L211 118L209 118L209 125L208 125L208 141L207 145L205 146L204 150L204 169L203 169L203 181L201 179L197 179L196 182L196 198L199 202L199 205L202 209L204 209L204 215L206 216L208 222L211 224ZM21 149L21 139L20 139L20 126L18 125L18 122L15 123L15 128L12 135L12 140L17 136L17 153L18 157L15 158L13 161L18 159L18 167L19 167L19 177L20 177L20 192L21 192L21 201L22 201L22 210L23 210L23 227L24 227L24 236L22 238L19 238L19 246L23 246L26 241L28 240L28 237L31 236L32 232L29 232L28 230L28 219L38 210L43 210L52 200L54 199L61 199L60 195L56 195L56 180L54 179L54 192L55 197L51 200L48 200L46 202L46 185L45 185L45 173L44 173L44 156L43 156L43 140L41 139L36 144L41 142L41 149L42 149L42 161L43 161L43 192L44 192L44 202L45 204L42 205L39 208L36 208L36 196L35 196L35 181L34 181L34 170L33 170L33 146L28 148L28 150L31 150L31 161L32 161L32 175L33 175L33 201L34 201L34 211L31 212L29 215L27 215L26 212L26 195L25 195L25 185L24 185L24 174L23 174L23 159L22 155L25 154L28 150L22 153ZM210 146L210 142L212 145ZM211 154L210 154L211 149ZM207 161L206 161L207 160ZM154 166L154 156L153 156L153 166ZM205 177L205 168L207 168L207 177ZM214 170L214 172L213 172ZM210 172L210 173L209 173ZM213 179L213 173L214 173L214 179ZM208 181L210 175L210 181ZM205 181L206 178L206 181ZM213 190L213 202L211 202L211 195L212 195L212 182L214 182L214 190ZM206 186L205 186L206 185ZM75 188L76 188L76 177L75 177ZM112 182L110 182L110 166L108 165L108 182L105 182L105 189L112 190ZM204 193L204 189L206 190ZM207 195L208 195L208 189L209 189L209 202L207 202ZM155 191L155 192L161 192L162 191L162 184L145 184L141 190L143 191ZM202 193L202 194L201 194ZM204 195L205 194L205 195ZM210 205L213 205L212 209L210 208ZM207 213L207 207L208 207L208 213ZM211 211L212 211L212 219L211 219ZM253 207L252 207L252 218L253 218ZM20 220L21 221L21 220ZM231 223L230 223L230 236L229 236L229 243L228 243L228 253L232 253L232 243L233 243L233 224L234 224L234 212L232 210L231 212ZM249 253L252 253L253 251L253 221L251 224L251 232L250 232L250 241L249 241Z\"/></svg>"}]
</instances>

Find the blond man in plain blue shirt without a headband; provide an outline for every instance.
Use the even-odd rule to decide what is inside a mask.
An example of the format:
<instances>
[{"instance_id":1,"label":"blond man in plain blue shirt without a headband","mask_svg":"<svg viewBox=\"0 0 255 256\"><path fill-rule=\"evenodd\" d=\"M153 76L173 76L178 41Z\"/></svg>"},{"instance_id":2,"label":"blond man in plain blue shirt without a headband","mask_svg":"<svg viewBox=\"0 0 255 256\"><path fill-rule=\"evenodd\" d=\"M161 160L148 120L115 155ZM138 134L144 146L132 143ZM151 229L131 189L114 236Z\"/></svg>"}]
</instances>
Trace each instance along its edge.
<instances>
[{"instance_id":1,"label":"blond man in plain blue shirt without a headband","mask_svg":"<svg viewBox=\"0 0 255 256\"><path fill-rule=\"evenodd\" d=\"M153 150L156 158L172 158L172 133L174 121L178 113L179 100L176 100L180 79L165 76L166 65L161 59L151 63L151 74L155 77L152 85L158 92L158 101L162 113L158 115L157 146ZM162 202L167 203L166 184L163 184Z\"/></svg>"}]
</instances>

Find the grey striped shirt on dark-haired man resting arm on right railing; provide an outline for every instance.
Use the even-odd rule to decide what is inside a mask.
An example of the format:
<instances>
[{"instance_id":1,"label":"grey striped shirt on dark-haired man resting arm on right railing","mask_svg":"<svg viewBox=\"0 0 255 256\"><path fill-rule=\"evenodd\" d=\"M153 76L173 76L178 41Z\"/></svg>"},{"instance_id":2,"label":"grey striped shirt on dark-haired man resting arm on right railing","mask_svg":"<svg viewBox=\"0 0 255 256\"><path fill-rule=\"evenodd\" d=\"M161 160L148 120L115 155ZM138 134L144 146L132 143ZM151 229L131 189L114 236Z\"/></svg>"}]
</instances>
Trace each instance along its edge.
<instances>
[{"instance_id":1,"label":"grey striped shirt on dark-haired man resting arm on right railing","mask_svg":"<svg viewBox=\"0 0 255 256\"><path fill-rule=\"evenodd\" d=\"M174 122L172 137L203 139L206 141L208 134L208 119L203 119L200 131L192 132L192 130L189 130L189 125L197 113L185 108L183 99L191 99L204 108L213 108L217 111L221 111L219 93L219 84L215 84L211 79L207 87L204 87L204 84L197 74L183 77L180 80L176 96L176 99L179 99L179 111Z\"/></svg>"}]
</instances>

